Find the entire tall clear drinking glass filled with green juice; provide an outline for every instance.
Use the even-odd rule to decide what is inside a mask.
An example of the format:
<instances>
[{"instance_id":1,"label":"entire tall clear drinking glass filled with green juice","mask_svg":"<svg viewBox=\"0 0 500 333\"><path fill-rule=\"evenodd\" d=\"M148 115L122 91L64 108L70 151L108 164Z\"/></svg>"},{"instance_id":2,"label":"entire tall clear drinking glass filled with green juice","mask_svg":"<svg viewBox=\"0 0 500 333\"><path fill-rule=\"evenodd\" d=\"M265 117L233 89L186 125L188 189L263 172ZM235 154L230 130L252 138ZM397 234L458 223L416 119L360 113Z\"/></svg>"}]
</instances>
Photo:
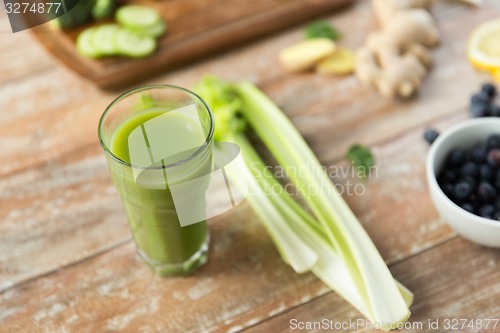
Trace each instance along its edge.
<instances>
[{"instance_id":1,"label":"entire tall clear drinking glass filled with green juice","mask_svg":"<svg viewBox=\"0 0 500 333\"><path fill-rule=\"evenodd\" d=\"M173 189L192 180L199 191L208 187L213 133L206 103L170 85L119 96L99 122L99 140L137 252L158 275L189 274L207 261L206 221L182 223L176 211L177 206L202 212L204 196Z\"/></svg>"}]
</instances>

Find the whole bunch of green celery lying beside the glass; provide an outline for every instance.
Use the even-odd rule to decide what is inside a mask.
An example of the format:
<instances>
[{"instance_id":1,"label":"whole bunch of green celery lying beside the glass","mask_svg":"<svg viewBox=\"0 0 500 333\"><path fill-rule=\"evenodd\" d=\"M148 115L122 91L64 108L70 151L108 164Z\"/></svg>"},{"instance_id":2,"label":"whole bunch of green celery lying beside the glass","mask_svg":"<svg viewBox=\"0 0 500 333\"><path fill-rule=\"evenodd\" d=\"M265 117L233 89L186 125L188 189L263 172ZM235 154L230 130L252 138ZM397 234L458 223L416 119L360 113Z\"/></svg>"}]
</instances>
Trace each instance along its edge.
<instances>
[{"instance_id":1,"label":"whole bunch of green celery lying beside the glass","mask_svg":"<svg viewBox=\"0 0 500 333\"><path fill-rule=\"evenodd\" d=\"M297 272L310 269L383 329L406 321L412 293L394 280L361 223L279 108L247 82L229 84L207 77L197 91L213 108L216 140L240 146L247 200L284 261ZM268 193L269 188L281 185L248 142L247 124L282 166L300 170L288 177L314 216L286 192ZM311 189L317 195L312 196Z\"/></svg>"}]
</instances>

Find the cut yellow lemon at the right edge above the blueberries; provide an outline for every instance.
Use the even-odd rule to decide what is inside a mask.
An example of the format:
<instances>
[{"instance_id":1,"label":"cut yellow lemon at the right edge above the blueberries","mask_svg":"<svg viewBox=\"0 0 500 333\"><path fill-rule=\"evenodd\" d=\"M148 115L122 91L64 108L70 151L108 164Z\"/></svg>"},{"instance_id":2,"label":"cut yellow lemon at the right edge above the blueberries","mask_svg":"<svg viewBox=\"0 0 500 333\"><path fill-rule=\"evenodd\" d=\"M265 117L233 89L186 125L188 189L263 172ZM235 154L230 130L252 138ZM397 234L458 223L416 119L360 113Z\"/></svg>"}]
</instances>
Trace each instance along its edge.
<instances>
[{"instance_id":1,"label":"cut yellow lemon at the right edge above the blueberries","mask_svg":"<svg viewBox=\"0 0 500 333\"><path fill-rule=\"evenodd\" d=\"M471 34L468 45L470 62L491 73L500 71L500 19L485 22Z\"/></svg>"}]
</instances>

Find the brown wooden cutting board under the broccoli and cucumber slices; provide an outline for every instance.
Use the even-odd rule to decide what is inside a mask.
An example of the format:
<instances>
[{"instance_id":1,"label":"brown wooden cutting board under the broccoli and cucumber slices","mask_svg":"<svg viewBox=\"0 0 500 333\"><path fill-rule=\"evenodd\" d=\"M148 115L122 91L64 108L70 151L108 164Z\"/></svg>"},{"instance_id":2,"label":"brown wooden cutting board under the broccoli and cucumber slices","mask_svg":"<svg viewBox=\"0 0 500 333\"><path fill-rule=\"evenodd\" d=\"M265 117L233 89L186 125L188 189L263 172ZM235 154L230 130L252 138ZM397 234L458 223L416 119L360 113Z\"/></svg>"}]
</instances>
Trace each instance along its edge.
<instances>
[{"instance_id":1,"label":"brown wooden cutting board under the broccoli and cucumber slices","mask_svg":"<svg viewBox=\"0 0 500 333\"><path fill-rule=\"evenodd\" d=\"M32 31L66 66L102 88L117 88L325 15L351 2L353 0L149 1L147 4L158 9L169 23L169 32L160 39L154 55L139 60L81 57L74 41L83 28L47 33L47 26L41 26Z\"/></svg>"}]
</instances>

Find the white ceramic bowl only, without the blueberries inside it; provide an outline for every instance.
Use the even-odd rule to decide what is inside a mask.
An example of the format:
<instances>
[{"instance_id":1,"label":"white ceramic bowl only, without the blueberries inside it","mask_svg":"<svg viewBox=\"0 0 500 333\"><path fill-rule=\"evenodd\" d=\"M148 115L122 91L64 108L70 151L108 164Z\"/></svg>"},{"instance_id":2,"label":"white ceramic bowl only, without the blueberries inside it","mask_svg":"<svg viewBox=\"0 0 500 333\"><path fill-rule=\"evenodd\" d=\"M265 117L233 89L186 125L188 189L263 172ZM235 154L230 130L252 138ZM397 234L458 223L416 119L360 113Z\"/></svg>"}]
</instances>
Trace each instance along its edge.
<instances>
[{"instance_id":1,"label":"white ceramic bowl only, without the blueberries inside it","mask_svg":"<svg viewBox=\"0 0 500 333\"><path fill-rule=\"evenodd\" d=\"M453 148L470 149L486 142L489 135L500 134L500 118L480 118L461 122L441 133L427 155L427 182L432 201L441 216L462 237L475 243L500 247L500 221L486 219L460 208L439 187L436 174Z\"/></svg>"}]
</instances>

